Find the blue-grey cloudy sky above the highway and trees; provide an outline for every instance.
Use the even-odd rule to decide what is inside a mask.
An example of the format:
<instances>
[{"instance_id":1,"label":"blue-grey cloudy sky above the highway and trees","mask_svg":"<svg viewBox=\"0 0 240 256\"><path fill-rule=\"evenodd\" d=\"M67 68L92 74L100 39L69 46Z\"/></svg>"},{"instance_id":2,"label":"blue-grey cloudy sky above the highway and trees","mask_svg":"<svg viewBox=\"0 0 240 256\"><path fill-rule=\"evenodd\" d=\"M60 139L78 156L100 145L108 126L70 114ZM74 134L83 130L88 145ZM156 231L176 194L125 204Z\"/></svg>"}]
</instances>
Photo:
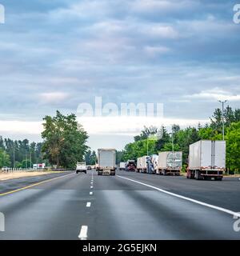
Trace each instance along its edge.
<instances>
[{"instance_id":1,"label":"blue-grey cloudy sky above the highway and trees","mask_svg":"<svg viewBox=\"0 0 240 256\"><path fill-rule=\"evenodd\" d=\"M240 107L240 24L229 0L0 0L0 133L41 140L42 118L82 102L162 103L161 122L205 123ZM82 118L93 148L145 124ZM160 118L148 119L153 124ZM158 124L158 123L157 123Z\"/></svg>"}]
</instances>

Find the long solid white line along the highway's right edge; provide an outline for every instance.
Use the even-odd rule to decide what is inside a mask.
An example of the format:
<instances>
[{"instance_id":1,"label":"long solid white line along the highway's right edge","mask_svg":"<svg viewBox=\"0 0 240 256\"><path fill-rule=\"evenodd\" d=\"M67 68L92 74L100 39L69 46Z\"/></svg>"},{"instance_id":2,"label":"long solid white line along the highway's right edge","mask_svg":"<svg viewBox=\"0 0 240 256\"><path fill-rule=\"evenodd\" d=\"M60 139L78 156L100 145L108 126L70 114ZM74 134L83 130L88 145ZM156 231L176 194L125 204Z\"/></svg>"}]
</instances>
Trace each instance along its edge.
<instances>
[{"instance_id":1,"label":"long solid white line along the highway's right edge","mask_svg":"<svg viewBox=\"0 0 240 256\"><path fill-rule=\"evenodd\" d=\"M160 192L162 192L162 193L165 193L165 194L170 194L171 196L174 196L174 197L176 197L176 198L182 198L182 199L184 199L184 200L186 200L186 201L194 202L194 203L197 203L198 205L206 206L206 207L212 208L212 209L214 209L214 210L219 210L219 211L222 211L222 212L224 212L224 213L226 213L226 214L230 214L230 215L232 215L232 216L237 216L237 217L240 218L240 213L234 212L234 211L232 211L232 210L228 210L228 209L225 209L225 208L222 208L222 207L218 207L218 206L213 206L213 205L210 205L210 204L208 204L208 203L206 203L206 202L201 202L201 201L198 201L198 200L195 200L195 199L192 199L192 198L186 198L186 197L184 197L184 196L182 196L182 195L180 195L180 194L174 194L174 193L171 193L171 192L169 192L169 191L159 189L157 186L151 186L151 185L149 185L149 184L146 184L146 183L143 183L143 182L138 182L138 181L136 181L136 180L134 180L134 179L131 179L131 178L125 178L125 177L122 177L122 176L119 176L119 175L117 175L117 177L118 177L118 178L126 179L126 180L128 180L128 181L130 181L130 182L135 182L135 183L141 184L141 185L143 185L143 186L148 186L148 187L150 187L150 188L152 188L152 189L154 189L154 190L158 190L158 191L160 191Z\"/></svg>"}]
</instances>

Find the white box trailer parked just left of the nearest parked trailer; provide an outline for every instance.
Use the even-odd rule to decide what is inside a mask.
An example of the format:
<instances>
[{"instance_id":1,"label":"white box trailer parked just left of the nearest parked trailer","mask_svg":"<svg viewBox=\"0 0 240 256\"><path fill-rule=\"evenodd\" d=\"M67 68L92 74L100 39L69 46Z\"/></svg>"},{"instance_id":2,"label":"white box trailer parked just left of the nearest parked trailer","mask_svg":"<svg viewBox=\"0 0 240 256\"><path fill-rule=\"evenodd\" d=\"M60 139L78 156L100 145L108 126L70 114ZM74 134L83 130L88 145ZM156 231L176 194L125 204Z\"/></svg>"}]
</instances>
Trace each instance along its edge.
<instances>
[{"instance_id":1,"label":"white box trailer parked just left of the nearest parked trailer","mask_svg":"<svg viewBox=\"0 0 240 256\"><path fill-rule=\"evenodd\" d=\"M158 166L156 174L180 175L182 169L182 152L165 151L158 154Z\"/></svg>"}]
</instances>

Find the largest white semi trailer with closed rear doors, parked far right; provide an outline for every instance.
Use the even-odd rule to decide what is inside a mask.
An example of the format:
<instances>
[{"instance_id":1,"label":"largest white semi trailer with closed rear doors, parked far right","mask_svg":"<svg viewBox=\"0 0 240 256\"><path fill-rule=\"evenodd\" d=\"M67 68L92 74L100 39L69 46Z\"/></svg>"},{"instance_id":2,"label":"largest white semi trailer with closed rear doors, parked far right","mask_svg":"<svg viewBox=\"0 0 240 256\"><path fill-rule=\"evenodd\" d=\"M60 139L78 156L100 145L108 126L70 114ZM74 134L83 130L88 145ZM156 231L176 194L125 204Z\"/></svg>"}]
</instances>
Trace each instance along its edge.
<instances>
[{"instance_id":1,"label":"largest white semi trailer with closed rear doors, parked far right","mask_svg":"<svg viewBox=\"0 0 240 256\"><path fill-rule=\"evenodd\" d=\"M201 140L190 145L187 178L222 181L226 170L226 142Z\"/></svg>"}]
</instances>

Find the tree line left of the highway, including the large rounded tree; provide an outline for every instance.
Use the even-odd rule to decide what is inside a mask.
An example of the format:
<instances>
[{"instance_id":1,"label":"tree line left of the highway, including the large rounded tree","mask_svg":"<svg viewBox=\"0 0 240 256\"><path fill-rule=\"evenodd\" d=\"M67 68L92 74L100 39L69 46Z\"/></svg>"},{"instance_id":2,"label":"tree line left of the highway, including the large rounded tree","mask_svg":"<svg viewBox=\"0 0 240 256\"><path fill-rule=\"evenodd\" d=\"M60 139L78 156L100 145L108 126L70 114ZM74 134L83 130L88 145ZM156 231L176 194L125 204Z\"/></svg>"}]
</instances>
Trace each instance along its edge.
<instances>
[{"instance_id":1,"label":"tree line left of the highway, including the large rounded tree","mask_svg":"<svg viewBox=\"0 0 240 256\"><path fill-rule=\"evenodd\" d=\"M43 142L11 140L0 137L0 167L30 168L34 163L75 168L77 162L94 164L96 154L86 146L88 135L74 114L43 118Z\"/></svg>"}]
</instances>

